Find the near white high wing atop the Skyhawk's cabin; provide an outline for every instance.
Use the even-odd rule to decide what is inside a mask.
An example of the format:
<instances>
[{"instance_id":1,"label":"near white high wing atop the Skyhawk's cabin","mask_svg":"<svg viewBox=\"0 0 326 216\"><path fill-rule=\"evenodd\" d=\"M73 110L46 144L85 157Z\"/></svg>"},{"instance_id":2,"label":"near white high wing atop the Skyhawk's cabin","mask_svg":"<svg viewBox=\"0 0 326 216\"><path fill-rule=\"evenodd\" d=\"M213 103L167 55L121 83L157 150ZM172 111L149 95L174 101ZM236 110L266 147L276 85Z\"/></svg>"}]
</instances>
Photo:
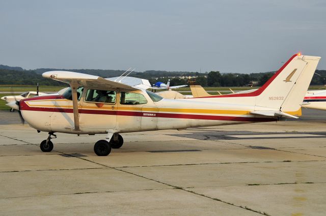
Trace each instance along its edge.
<instances>
[{"instance_id":1,"label":"near white high wing atop the Skyhawk's cabin","mask_svg":"<svg viewBox=\"0 0 326 216\"><path fill-rule=\"evenodd\" d=\"M90 88L122 88L128 90L137 90L130 85L107 80L99 76L75 73L70 71L48 71L42 74L45 78L58 80L61 82L69 83L70 86L85 86Z\"/></svg>"}]
</instances>

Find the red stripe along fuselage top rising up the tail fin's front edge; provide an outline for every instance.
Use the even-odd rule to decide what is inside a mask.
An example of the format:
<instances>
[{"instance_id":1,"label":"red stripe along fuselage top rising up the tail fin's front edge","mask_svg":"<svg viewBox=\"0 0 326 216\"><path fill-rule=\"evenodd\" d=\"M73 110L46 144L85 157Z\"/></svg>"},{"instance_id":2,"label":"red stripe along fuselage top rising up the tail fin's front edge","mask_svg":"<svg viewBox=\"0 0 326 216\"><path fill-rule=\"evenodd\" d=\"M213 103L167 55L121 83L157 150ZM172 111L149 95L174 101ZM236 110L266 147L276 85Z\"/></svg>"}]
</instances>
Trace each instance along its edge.
<instances>
[{"instance_id":1,"label":"red stripe along fuselage top rising up the tail fin's front edge","mask_svg":"<svg viewBox=\"0 0 326 216\"><path fill-rule=\"evenodd\" d=\"M283 69L291 62L291 60L297 56L297 54L293 55L286 63L267 81L263 86L258 88L257 90L249 93L242 93L242 94L230 94L230 95L216 95L216 96L207 96L207 97L199 97L199 98L233 98L233 97L255 97L259 96L267 86L273 82L273 80L283 71ZM195 99L195 98L189 98Z\"/></svg>"}]
</instances>

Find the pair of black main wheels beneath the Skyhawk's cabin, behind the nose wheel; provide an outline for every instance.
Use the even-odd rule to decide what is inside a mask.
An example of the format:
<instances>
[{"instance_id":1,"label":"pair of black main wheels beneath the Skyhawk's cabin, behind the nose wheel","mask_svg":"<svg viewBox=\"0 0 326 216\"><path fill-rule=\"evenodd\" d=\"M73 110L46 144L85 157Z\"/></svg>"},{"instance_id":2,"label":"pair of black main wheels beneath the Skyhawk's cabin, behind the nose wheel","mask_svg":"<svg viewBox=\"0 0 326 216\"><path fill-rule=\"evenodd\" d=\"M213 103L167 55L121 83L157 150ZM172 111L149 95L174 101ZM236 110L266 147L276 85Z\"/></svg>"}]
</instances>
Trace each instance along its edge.
<instances>
[{"instance_id":1,"label":"pair of black main wheels beneath the Skyhawk's cabin, behind the nose wheel","mask_svg":"<svg viewBox=\"0 0 326 216\"><path fill-rule=\"evenodd\" d=\"M123 138L120 134L114 134L110 139L99 140L94 145L94 152L98 156L107 156L111 152L111 148L120 148L123 145Z\"/></svg>"}]
</instances>

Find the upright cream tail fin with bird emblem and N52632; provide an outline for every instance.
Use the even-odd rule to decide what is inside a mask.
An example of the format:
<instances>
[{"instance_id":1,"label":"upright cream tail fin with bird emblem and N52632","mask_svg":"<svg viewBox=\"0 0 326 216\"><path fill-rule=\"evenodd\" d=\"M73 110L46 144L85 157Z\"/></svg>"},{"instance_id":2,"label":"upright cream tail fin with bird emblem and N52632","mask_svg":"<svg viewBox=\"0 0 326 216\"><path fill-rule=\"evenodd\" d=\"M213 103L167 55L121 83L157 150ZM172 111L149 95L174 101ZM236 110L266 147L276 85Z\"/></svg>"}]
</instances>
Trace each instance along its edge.
<instances>
[{"instance_id":1,"label":"upright cream tail fin with bird emblem and N52632","mask_svg":"<svg viewBox=\"0 0 326 216\"><path fill-rule=\"evenodd\" d=\"M293 55L273 77L255 91L255 105L301 114L301 104L319 59L316 56Z\"/></svg>"}]
</instances>

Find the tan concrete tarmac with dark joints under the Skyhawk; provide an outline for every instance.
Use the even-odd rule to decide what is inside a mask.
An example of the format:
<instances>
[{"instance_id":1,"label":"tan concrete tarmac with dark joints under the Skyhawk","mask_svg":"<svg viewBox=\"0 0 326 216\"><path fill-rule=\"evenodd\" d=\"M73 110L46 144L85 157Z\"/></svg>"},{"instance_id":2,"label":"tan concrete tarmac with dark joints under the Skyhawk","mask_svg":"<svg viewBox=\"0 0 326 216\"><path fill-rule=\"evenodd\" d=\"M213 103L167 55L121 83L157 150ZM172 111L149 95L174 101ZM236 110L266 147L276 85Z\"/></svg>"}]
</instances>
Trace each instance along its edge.
<instances>
[{"instance_id":1,"label":"tan concrete tarmac with dark joints under the Skyhawk","mask_svg":"<svg viewBox=\"0 0 326 216\"><path fill-rule=\"evenodd\" d=\"M326 119L105 135L46 133L0 111L0 215L325 215ZM12 124L14 123L14 124Z\"/></svg>"}]
</instances>

